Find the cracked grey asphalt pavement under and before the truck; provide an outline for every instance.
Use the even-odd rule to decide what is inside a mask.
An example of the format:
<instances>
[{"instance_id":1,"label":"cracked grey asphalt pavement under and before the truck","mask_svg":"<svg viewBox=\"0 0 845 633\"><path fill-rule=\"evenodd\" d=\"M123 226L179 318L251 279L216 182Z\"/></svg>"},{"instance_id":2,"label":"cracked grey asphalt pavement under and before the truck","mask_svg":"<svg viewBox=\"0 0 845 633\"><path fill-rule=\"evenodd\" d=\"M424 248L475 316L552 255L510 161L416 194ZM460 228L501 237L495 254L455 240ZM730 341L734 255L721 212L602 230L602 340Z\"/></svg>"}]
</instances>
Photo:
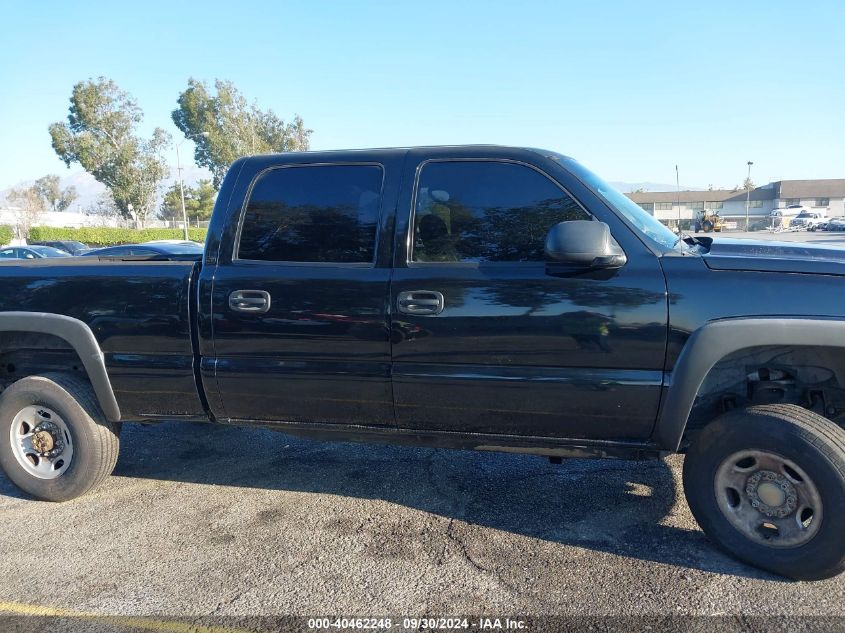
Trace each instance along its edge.
<instances>
[{"instance_id":1,"label":"cracked grey asphalt pavement under and before the truck","mask_svg":"<svg viewBox=\"0 0 845 633\"><path fill-rule=\"evenodd\" d=\"M845 576L786 581L716 549L684 501L680 456L555 465L179 423L125 425L121 441L114 476L68 503L0 476L0 602L154 616L845 615Z\"/></svg>"}]
</instances>

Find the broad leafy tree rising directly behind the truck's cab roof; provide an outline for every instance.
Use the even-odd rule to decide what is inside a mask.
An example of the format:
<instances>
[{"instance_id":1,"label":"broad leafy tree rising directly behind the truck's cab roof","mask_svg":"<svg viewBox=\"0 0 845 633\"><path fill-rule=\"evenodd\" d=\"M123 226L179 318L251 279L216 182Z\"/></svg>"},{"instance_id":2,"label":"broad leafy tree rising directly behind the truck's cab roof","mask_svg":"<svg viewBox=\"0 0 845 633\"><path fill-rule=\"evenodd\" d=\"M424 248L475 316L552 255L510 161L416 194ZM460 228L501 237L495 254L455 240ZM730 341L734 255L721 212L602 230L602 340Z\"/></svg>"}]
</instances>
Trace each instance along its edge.
<instances>
[{"instance_id":1,"label":"broad leafy tree rising directly behind the truck's cab roof","mask_svg":"<svg viewBox=\"0 0 845 633\"><path fill-rule=\"evenodd\" d=\"M215 189L241 156L308 149L312 130L299 115L285 123L272 110L249 104L229 81L215 81L212 93L205 82L189 79L177 101L173 122L196 144L194 160L211 170Z\"/></svg>"}]
</instances>

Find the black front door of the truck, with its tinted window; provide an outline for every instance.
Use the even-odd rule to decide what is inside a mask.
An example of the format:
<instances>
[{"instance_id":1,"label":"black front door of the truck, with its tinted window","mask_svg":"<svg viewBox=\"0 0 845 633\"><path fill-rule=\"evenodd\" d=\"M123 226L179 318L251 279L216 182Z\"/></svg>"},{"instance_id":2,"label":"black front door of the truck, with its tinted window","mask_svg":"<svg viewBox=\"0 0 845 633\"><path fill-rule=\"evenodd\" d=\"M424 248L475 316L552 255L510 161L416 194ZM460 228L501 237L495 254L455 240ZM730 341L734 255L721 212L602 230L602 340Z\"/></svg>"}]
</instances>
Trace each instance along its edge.
<instances>
[{"instance_id":1,"label":"black front door of the truck, with its tinted window","mask_svg":"<svg viewBox=\"0 0 845 633\"><path fill-rule=\"evenodd\" d=\"M391 296L398 425L648 437L666 346L657 257L539 153L520 154L532 164L483 151L408 156ZM544 261L549 228L586 219L610 225L627 264L556 274Z\"/></svg>"}]
</instances>

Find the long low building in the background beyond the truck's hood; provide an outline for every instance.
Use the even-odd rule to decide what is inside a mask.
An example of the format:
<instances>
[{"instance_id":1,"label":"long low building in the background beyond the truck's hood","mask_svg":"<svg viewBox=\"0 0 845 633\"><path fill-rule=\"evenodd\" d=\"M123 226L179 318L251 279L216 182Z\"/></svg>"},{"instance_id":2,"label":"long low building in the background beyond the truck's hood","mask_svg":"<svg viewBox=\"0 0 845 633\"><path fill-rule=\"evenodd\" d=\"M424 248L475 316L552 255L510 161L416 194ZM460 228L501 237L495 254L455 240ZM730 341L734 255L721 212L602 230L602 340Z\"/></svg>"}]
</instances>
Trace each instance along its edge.
<instances>
[{"instance_id":1,"label":"long low building in the background beyond the truck's hood","mask_svg":"<svg viewBox=\"0 0 845 633\"><path fill-rule=\"evenodd\" d=\"M641 191L627 194L631 200L665 224L683 229L704 211L718 212L723 219L745 228L743 189L708 191ZM748 217L751 228L769 225L772 211L800 204L828 217L845 215L845 178L830 180L778 180L751 190Z\"/></svg>"}]
</instances>

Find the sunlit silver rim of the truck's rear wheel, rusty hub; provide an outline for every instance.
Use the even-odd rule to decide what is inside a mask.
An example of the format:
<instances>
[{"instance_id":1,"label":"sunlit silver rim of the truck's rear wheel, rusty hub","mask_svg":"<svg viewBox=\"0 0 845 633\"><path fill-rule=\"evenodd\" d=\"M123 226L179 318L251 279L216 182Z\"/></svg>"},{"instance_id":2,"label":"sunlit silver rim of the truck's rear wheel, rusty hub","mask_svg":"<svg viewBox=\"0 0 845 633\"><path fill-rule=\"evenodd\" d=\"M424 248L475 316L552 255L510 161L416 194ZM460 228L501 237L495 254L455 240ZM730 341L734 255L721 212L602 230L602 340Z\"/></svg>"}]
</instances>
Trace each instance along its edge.
<instances>
[{"instance_id":1,"label":"sunlit silver rim of the truck's rear wheel, rusty hub","mask_svg":"<svg viewBox=\"0 0 845 633\"><path fill-rule=\"evenodd\" d=\"M9 442L18 464L38 479L61 477L73 459L70 429L48 407L31 405L21 409L12 420ZM50 454L56 451L58 454Z\"/></svg>"}]
</instances>

